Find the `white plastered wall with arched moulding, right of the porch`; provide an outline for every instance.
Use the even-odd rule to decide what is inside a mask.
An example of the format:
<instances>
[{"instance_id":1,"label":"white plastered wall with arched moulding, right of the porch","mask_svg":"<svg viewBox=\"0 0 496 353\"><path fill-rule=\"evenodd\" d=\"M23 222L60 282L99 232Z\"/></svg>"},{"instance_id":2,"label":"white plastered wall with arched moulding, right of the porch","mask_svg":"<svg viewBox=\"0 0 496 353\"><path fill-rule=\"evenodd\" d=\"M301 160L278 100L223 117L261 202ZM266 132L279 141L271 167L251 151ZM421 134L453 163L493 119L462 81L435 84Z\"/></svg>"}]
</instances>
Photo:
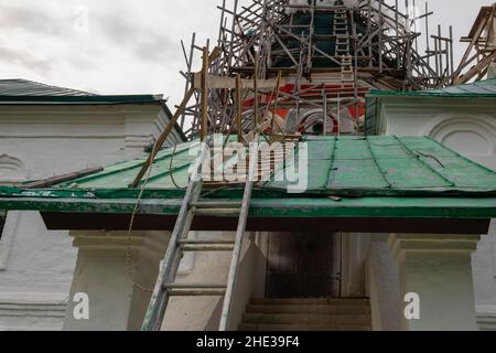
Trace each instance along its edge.
<instances>
[{"instance_id":1,"label":"white plastered wall with arched moulding, right of the porch","mask_svg":"<svg viewBox=\"0 0 496 353\"><path fill-rule=\"evenodd\" d=\"M494 99L387 99L380 120L385 135L429 136L489 169L496 170ZM479 328L496 330L496 221L473 255L475 304Z\"/></svg>"}]
</instances>

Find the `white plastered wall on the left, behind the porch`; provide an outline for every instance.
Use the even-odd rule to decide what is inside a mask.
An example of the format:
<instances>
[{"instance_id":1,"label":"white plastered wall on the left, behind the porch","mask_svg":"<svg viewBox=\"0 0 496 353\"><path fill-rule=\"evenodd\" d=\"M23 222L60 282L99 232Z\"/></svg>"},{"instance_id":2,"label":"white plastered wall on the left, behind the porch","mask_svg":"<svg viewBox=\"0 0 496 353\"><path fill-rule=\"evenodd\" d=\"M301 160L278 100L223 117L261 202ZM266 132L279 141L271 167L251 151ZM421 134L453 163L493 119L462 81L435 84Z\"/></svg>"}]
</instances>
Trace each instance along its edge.
<instances>
[{"instance_id":1,"label":"white plastered wall on the left, behind the porch","mask_svg":"<svg viewBox=\"0 0 496 353\"><path fill-rule=\"evenodd\" d=\"M168 124L158 104L2 107L0 184L143 156ZM179 140L179 136L174 136ZM0 330L60 330L77 252L37 212L9 212L0 240Z\"/></svg>"}]
</instances>

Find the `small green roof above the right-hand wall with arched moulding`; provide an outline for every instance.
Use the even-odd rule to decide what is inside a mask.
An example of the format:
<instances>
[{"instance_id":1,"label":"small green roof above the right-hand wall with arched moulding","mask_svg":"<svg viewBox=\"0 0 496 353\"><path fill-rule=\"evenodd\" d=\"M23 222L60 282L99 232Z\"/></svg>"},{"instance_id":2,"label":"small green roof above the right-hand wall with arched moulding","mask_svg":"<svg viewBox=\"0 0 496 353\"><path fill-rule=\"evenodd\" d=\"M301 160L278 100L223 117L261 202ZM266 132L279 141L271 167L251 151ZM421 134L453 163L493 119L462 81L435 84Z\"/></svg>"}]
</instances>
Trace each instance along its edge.
<instances>
[{"instance_id":1,"label":"small green roof above the right-hand wall with arched moulding","mask_svg":"<svg viewBox=\"0 0 496 353\"><path fill-rule=\"evenodd\" d=\"M431 90L370 90L367 97L446 97L446 98L496 98L496 78L474 82L460 86L450 86Z\"/></svg>"}]
</instances>

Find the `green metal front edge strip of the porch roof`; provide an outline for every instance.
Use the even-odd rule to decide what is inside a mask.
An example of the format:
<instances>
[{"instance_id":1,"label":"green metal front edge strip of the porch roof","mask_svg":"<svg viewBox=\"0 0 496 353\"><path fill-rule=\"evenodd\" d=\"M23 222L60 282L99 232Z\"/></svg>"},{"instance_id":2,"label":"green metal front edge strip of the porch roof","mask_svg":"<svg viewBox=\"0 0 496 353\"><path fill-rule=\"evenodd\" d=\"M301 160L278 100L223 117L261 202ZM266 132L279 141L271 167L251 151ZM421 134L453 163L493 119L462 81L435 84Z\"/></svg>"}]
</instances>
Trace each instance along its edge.
<instances>
[{"instance_id":1,"label":"green metal front edge strip of the porch roof","mask_svg":"<svg viewBox=\"0 0 496 353\"><path fill-rule=\"evenodd\" d=\"M182 197L142 200L139 214L176 215ZM74 199L0 199L0 207L12 211L55 213L131 214L136 199L74 200ZM389 217L389 218L493 218L496 199L440 197L358 197L334 202L330 199L255 197L250 217Z\"/></svg>"}]
</instances>

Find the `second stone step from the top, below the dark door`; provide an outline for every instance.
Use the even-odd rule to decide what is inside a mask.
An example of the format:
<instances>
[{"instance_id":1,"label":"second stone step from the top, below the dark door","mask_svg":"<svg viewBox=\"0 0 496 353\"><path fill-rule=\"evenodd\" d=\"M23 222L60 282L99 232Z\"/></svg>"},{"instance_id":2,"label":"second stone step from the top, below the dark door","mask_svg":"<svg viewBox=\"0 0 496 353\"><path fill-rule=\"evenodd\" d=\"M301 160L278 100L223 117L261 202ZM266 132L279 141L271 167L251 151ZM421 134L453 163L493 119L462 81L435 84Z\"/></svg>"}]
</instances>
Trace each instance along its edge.
<instances>
[{"instance_id":1,"label":"second stone step from the top, below the dark door","mask_svg":"<svg viewBox=\"0 0 496 353\"><path fill-rule=\"evenodd\" d=\"M247 313L370 314L369 306L250 304Z\"/></svg>"}]
</instances>

